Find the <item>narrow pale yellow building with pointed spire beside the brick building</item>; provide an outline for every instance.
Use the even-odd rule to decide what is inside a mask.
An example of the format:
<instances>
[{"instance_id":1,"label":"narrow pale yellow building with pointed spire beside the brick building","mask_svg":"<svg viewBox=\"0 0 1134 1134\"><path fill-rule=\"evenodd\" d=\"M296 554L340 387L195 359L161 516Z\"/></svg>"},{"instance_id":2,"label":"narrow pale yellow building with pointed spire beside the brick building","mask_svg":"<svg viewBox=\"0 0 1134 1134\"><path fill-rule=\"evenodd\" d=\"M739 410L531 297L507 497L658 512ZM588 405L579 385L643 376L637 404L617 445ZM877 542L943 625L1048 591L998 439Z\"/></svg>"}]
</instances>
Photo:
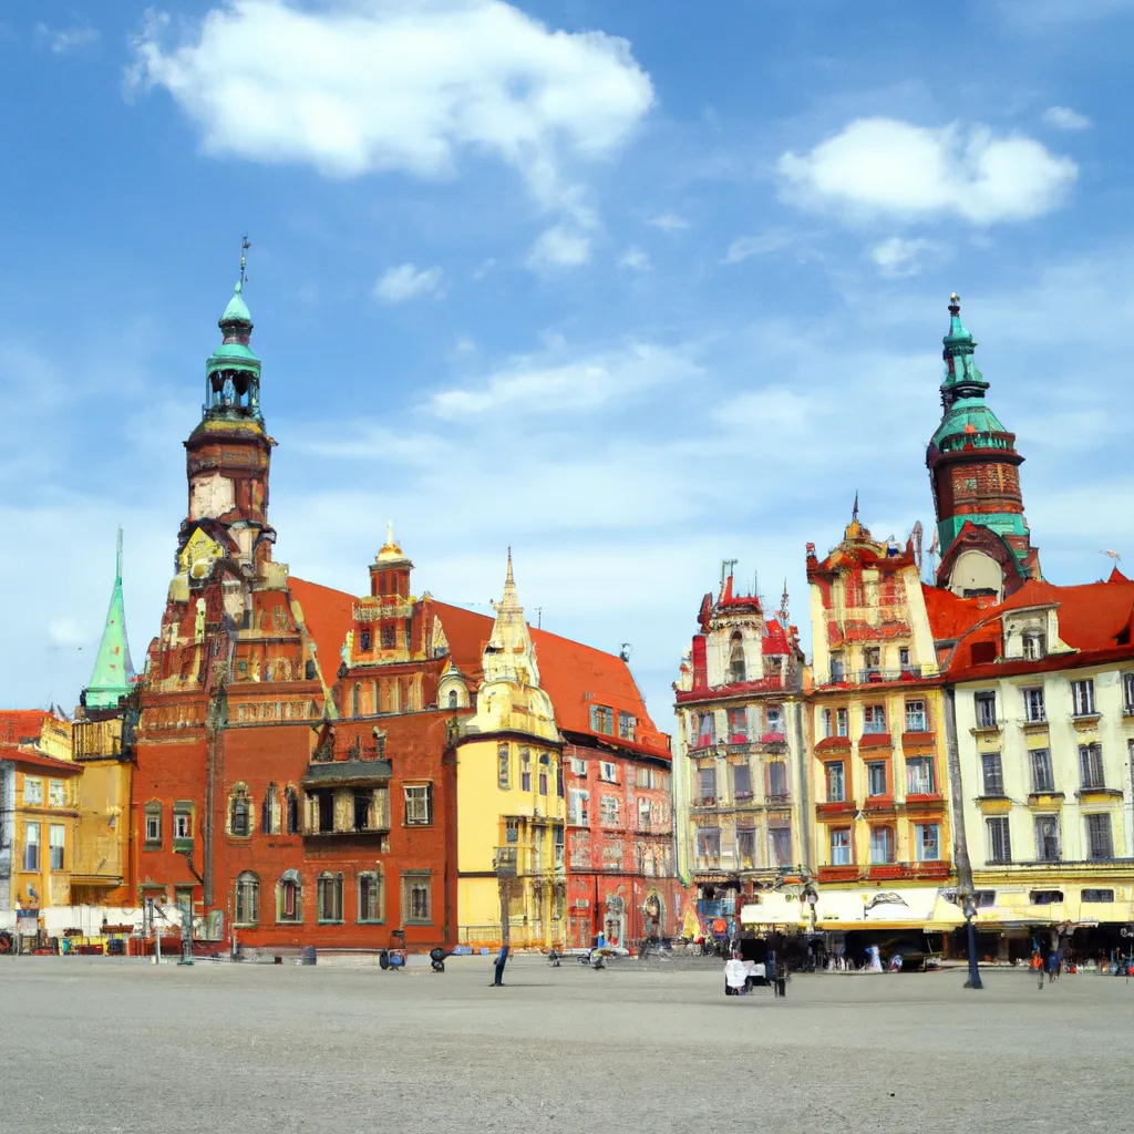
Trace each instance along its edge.
<instances>
[{"instance_id":1,"label":"narrow pale yellow building with pointed spire beside the brick building","mask_svg":"<svg viewBox=\"0 0 1134 1134\"><path fill-rule=\"evenodd\" d=\"M510 552L482 667L476 712L456 741L458 939L499 945L507 934L514 948L549 948L566 888L562 739Z\"/></svg>"}]
</instances>

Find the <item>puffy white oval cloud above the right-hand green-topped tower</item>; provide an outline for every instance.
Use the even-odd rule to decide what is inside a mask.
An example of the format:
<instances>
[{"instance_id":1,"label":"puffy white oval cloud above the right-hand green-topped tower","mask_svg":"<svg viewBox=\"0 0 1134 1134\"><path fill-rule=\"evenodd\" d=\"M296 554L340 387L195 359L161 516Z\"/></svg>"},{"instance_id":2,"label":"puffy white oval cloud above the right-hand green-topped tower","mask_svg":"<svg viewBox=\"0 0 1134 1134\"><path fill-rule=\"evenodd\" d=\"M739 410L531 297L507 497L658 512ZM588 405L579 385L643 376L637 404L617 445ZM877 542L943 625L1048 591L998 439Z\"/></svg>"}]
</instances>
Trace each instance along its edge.
<instances>
[{"instance_id":1,"label":"puffy white oval cloud above the right-hand green-topped tower","mask_svg":"<svg viewBox=\"0 0 1134 1134\"><path fill-rule=\"evenodd\" d=\"M974 225L1026 220L1059 205L1078 167L1033 138L984 126L860 118L810 153L779 160L795 204L854 214L954 214Z\"/></svg>"}]
</instances>

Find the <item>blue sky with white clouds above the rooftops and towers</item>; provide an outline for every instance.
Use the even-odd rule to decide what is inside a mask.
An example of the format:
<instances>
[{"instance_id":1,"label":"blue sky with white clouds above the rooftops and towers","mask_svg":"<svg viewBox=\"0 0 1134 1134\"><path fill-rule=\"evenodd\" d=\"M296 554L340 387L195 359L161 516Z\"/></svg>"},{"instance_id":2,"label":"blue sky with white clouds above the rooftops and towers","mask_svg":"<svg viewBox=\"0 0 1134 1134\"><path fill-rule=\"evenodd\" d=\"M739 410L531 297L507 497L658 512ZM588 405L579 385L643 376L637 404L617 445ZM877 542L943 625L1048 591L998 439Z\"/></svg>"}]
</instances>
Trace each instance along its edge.
<instances>
[{"instance_id":1,"label":"blue sky with white clouds above the rooftops and towers","mask_svg":"<svg viewBox=\"0 0 1134 1134\"><path fill-rule=\"evenodd\" d=\"M720 560L929 528L948 294L1057 583L1134 567L1132 0L211 0L0 12L0 701L135 662L246 296L277 558L633 645L669 722Z\"/></svg>"}]
</instances>

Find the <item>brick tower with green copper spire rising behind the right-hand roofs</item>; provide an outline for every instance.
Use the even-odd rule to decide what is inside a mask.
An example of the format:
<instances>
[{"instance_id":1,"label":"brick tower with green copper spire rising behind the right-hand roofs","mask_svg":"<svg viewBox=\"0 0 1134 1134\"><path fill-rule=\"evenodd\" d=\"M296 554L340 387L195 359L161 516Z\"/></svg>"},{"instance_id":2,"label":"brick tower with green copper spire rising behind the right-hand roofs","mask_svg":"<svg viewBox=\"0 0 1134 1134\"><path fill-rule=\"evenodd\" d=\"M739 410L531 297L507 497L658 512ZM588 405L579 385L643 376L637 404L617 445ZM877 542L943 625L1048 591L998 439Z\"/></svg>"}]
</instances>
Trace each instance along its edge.
<instances>
[{"instance_id":1,"label":"brick tower with green copper spire rising behind the right-hand roofs","mask_svg":"<svg viewBox=\"0 0 1134 1134\"><path fill-rule=\"evenodd\" d=\"M960 595L998 600L1040 574L1019 489L1016 437L984 400L989 383L976 367L976 342L949 297L942 339L941 424L925 454L941 549L938 585Z\"/></svg>"}]
</instances>

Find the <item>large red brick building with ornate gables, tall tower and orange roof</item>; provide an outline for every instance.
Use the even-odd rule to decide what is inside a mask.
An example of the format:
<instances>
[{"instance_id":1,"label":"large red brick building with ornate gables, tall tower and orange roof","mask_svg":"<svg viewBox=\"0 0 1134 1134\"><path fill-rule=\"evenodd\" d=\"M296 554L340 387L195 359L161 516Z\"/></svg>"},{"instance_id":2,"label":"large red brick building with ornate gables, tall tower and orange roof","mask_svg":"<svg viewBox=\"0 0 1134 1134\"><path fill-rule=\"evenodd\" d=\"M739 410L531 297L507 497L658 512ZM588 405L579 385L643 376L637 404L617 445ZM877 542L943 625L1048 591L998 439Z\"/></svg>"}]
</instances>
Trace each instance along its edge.
<instances>
[{"instance_id":1,"label":"large red brick building with ornate gables, tall tower and orange roof","mask_svg":"<svg viewBox=\"0 0 1134 1134\"><path fill-rule=\"evenodd\" d=\"M276 442L240 293L221 316L203 418L186 441L177 574L138 682L132 889L188 906L204 936L235 933L248 947L452 946L451 743L475 706L492 619L415 598L392 531L362 596L273 561ZM608 858L602 885L584 870L576 906L584 891L608 909L620 899L619 936L666 931L679 915L667 738L625 661L532 636L575 759L591 775L600 760L618 769L620 826L595 826L595 846L609 855L617 831L620 858Z\"/></svg>"}]
</instances>

